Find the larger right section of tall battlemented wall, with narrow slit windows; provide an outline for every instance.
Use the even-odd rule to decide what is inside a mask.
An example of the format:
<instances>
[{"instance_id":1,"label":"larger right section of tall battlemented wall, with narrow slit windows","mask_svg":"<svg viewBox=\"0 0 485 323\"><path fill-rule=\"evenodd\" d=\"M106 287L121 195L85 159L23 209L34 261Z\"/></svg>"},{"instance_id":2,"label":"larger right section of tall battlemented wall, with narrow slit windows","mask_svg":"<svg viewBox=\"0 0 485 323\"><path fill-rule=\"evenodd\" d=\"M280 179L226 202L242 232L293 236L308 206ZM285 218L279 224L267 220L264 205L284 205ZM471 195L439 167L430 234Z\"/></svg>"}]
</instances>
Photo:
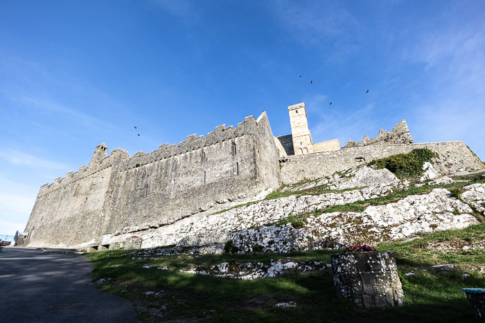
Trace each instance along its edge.
<instances>
[{"instance_id":1,"label":"larger right section of tall battlemented wall, with narrow slit windows","mask_svg":"<svg viewBox=\"0 0 485 323\"><path fill-rule=\"evenodd\" d=\"M109 201L114 216L107 222L105 234L142 223L173 223L209 210L218 201L279 187L277 156L272 156L276 147L265 113L258 122L251 116L237 129L220 126L205 139L200 136L195 140L202 142L185 145L179 154L168 158L150 160L148 154L139 156L140 167L130 167L135 163L131 158L125 161L127 165L118 174ZM269 147L261 147L262 142ZM155 151L152 155L156 156ZM267 159L274 160L276 174L274 169L266 169Z\"/></svg>"}]
</instances>

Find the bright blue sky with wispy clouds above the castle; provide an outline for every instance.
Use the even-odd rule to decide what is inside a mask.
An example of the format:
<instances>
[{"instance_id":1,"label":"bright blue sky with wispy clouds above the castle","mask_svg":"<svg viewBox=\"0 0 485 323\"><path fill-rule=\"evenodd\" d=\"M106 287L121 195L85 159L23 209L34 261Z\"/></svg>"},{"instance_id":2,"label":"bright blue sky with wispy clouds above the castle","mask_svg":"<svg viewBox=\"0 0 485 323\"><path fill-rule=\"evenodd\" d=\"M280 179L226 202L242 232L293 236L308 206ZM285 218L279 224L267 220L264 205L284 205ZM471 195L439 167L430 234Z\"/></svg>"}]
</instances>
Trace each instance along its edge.
<instances>
[{"instance_id":1,"label":"bright blue sky with wispy clouds above the castle","mask_svg":"<svg viewBox=\"0 0 485 323\"><path fill-rule=\"evenodd\" d=\"M405 118L485 160L484 84L484 1L4 0L0 234L100 142L153 151L263 110L285 135L299 102L314 142Z\"/></svg>"}]
</instances>

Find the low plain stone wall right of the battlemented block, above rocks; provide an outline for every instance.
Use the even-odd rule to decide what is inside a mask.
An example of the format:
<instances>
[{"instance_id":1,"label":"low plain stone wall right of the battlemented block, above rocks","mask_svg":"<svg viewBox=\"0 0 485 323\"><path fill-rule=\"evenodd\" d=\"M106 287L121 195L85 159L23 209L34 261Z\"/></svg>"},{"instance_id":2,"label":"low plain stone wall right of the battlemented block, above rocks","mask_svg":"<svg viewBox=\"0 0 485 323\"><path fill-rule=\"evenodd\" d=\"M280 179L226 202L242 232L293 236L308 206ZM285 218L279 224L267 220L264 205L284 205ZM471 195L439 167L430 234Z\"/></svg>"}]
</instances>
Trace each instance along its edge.
<instances>
[{"instance_id":1,"label":"low plain stone wall right of the battlemented block, above rocks","mask_svg":"<svg viewBox=\"0 0 485 323\"><path fill-rule=\"evenodd\" d=\"M321 151L304 156L285 156L280 159L281 181L293 184L308 179L330 176L335 172L369 163L371 160L395 154L405 154L412 149L427 147L435 151L434 169L441 174L456 174L485 169L462 141L428 142L422 144L365 146Z\"/></svg>"}]
</instances>

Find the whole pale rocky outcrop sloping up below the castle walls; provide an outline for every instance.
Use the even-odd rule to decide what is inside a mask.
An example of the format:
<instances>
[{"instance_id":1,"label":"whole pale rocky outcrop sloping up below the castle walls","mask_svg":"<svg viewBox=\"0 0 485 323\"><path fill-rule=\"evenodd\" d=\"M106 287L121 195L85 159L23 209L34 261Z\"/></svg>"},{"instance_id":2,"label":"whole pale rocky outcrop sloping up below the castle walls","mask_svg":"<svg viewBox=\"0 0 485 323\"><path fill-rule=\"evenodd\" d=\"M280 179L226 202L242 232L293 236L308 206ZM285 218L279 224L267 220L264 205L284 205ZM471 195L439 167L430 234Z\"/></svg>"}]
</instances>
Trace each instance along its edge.
<instances>
[{"instance_id":1,"label":"whole pale rocky outcrop sloping up below the castle walls","mask_svg":"<svg viewBox=\"0 0 485 323\"><path fill-rule=\"evenodd\" d=\"M426 170L430 169L428 165ZM420 184L427 186L417 189L419 194L405 196L416 188L409 189L409 182L400 181L389 170L355 167L283 187L270 199L217 214L194 214L136 235L143 239L142 248L170 246L155 249L158 255L220 254L224 247L225 252L238 253L290 252L396 241L479 223L477 214L485 212L485 183L467 185L461 194L452 194L446 188L432 190L436 187L432 185L454 183L451 178L428 177ZM376 203L396 192L401 195L389 199L391 203ZM367 200L372 203L365 203ZM358 203L359 212L355 207L339 207L353 203ZM330 212L330 207L336 212ZM110 242L124 238L121 234Z\"/></svg>"}]
</instances>

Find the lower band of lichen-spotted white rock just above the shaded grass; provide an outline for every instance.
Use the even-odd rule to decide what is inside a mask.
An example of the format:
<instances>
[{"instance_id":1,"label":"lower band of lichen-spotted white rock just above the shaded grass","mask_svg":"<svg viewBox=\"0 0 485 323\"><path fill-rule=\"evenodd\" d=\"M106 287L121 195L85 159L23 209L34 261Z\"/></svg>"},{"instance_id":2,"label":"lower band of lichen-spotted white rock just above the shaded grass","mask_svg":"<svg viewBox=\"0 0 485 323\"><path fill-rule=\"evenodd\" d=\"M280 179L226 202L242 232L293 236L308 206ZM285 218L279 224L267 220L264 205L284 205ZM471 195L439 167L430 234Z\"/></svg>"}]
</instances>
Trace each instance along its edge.
<instances>
[{"instance_id":1,"label":"lower band of lichen-spotted white rock just above the shaded grass","mask_svg":"<svg viewBox=\"0 0 485 323\"><path fill-rule=\"evenodd\" d=\"M231 239L243 252L251 252L256 243L265 252L338 248L358 241L396 241L427 232L466 228L479 223L472 213L448 190L434 189L396 203L370 205L363 212L309 216L299 228L288 224L240 230Z\"/></svg>"}]
</instances>

